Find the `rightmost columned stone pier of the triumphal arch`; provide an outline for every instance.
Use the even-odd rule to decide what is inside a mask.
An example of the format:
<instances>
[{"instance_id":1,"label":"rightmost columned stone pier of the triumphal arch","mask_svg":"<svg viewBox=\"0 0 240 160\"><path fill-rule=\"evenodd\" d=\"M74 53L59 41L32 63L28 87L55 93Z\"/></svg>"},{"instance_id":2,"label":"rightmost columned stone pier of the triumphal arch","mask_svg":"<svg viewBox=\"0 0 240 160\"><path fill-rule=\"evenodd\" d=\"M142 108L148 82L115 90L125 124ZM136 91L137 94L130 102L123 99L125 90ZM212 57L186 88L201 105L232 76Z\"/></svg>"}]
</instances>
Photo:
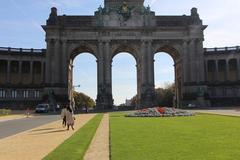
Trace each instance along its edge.
<instances>
[{"instance_id":1,"label":"rightmost columned stone pier of the triumphal arch","mask_svg":"<svg viewBox=\"0 0 240 160\"><path fill-rule=\"evenodd\" d=\"M184 59L186 56L183 56L183 72L190 71L187 75L183 74L184 81L181 85L178 84L179 91L179 107L187 106L190 103L194 103L197 106L209 106L210 103L205 99L207 94L207 85L206 85L206 74L208 75L208 64L206 65L206 71L204 70L204 50L203 50L203 38L193 38L189 39L188 45L183 43L183 48L187 47L188 49L188 61ZM206 62L208 63L208 62ZM186 67L189 66L188 69ZM189 76L189 78L188 78ZM188 80L189 79L189 80ZM181 88L182 87L182 88ZM194 96L193 96L194 95ZM182 99L182 100L181 100Z\"/></svg>"}]
</instances>

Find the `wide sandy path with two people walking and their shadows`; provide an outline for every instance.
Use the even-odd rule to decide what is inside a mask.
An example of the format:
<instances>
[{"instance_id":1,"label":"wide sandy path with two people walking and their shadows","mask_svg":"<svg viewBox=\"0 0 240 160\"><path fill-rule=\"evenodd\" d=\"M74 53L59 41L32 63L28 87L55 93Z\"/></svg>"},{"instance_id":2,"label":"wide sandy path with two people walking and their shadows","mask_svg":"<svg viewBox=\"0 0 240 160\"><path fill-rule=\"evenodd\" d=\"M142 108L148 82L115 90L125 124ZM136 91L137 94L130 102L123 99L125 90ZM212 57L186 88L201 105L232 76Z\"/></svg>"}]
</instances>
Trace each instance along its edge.
<instances>
[{"instance_id":1,"label":"wide sandy path with two people walking and their shadows","mask_svg":"<svg viewBox=\"0 0 240 160\"><path fill-rule=\"evenodd\" d=\"M66 131L61 121L55 121L0 140L0 159L39 160L54 150L95 114L77 115L75 130Z\"/></svg>"}]
</instances>

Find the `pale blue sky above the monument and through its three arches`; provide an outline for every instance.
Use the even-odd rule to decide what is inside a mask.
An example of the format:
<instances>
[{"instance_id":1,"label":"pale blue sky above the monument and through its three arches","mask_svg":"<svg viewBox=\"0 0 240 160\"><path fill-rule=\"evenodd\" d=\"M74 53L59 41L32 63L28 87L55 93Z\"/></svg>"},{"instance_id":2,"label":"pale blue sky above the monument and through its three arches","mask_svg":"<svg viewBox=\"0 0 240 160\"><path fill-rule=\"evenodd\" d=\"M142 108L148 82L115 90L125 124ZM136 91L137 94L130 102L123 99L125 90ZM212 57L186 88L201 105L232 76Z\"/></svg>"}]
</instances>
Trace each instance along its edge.
<instances>
[{"instance_id":1,"label":"pale blue sky above the monument and through its three arches","mask_svg":"<svg viewBox=\"0 0 240 160\"><path fill-rule=\"evenodd\" d=\"M46 23L50 8L57 7L59 15L93 15L103 0L0 0L0 47L46 48ZM239 0L145 0L156 15L189 15L197 7L203 24L204 47L240 45ZM136 62L126 53L113 59L113 98L116 104L136 94ZM96 59L81 54L74 60L74 84L77 91L96 99ZM155 56L155 85L174 81L173 60L167 54ZM127 70L127 74L126 71Z\"/></svg>"}]
</instances>

